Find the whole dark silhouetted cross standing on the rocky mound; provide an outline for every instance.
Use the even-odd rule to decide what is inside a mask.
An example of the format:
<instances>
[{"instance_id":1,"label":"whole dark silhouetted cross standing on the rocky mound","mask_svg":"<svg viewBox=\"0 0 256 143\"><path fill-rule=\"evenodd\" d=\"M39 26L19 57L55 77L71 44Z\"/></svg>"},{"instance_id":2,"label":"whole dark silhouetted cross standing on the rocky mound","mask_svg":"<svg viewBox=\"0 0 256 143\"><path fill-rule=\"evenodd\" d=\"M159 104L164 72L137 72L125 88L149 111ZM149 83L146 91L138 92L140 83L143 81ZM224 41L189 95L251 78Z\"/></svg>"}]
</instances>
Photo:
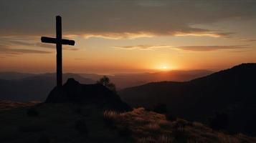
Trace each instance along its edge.
<instances>
[{"instance_id":1,"label":"whole dark silhouetted cross standing on the rocky mound","mask_svg":"<svg viewBox=\"0 0 256 143\"><path fill-rule=\"evenodd\" d=\"M41 37L41 41L44 43L56 44L57 54L57 88L62 87L62 44L75 45L75 41L62 39L62 17L56 16L56 38Z\"/></svg>"}]
</instances>

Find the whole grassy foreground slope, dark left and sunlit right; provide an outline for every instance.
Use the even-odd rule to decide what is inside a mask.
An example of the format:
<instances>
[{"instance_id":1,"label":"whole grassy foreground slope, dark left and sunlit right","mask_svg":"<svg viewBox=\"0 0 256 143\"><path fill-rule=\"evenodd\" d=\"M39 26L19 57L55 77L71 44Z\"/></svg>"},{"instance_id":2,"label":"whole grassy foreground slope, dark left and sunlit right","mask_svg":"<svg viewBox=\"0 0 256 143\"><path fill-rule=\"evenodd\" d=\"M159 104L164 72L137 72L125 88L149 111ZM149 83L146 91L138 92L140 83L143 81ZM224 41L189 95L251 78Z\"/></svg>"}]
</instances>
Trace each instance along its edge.
<instances>
[{"instance_id":1,"label":"whole grassy foreground slope, dark left and sunlit right","mask_svg":"<svg viewBox=\"0 0 256 143\"><path fill-rule=\"evenodd\" d=\"M28 111L32 111L28 115ZM37 115L38 113L38 115ZM0 111L0 142L256 142L143 108L118 114L77 104L41 104Z\"/></svg>"}]
</instances>

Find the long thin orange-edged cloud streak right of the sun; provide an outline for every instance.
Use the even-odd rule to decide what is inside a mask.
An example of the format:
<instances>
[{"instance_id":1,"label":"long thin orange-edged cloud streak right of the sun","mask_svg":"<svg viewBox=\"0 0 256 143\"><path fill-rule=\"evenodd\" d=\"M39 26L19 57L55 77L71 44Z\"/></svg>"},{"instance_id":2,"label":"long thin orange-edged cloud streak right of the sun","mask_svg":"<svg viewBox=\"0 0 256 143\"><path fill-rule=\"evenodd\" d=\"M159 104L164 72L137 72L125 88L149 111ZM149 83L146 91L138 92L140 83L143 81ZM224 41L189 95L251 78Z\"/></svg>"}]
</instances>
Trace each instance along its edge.
<instances>
[{"instance_id":1,"label":"long thin orange-edged cloud streak right of the sun","mask_svg":"<svg viewBox=\"0 0 256 143\"><path fill-rule=\"evenodd\" d=\"M176 49L184 51L215 51L220 49L249 49L248 45L236 45L236 46L178 46Z\"/></svg>"}]
</instances>

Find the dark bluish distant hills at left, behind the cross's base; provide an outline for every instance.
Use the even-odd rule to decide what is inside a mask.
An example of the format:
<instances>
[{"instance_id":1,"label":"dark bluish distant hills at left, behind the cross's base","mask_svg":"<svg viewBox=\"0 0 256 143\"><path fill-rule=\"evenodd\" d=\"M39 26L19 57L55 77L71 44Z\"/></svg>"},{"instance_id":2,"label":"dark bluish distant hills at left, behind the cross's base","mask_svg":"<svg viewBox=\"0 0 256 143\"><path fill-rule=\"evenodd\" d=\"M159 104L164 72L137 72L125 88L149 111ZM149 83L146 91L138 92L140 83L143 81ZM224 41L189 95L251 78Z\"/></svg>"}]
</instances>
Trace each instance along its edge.
<instances>
[{"instance_id":1,"label":"dark bluish distant hills at left, behind the cross's base","mask_svg":"<svg viewBox=\"0 0 256 143\"><path fill-rule=\"evenodd\" d=\"M77 74L63 74L63 82L74 78L83 84L93 84L93 79L86 79ZM39 74L22 79L0 79L0 99L25 101L44 101L49 91L56 85L55 74Z\"/></svg>"}]
</instances>

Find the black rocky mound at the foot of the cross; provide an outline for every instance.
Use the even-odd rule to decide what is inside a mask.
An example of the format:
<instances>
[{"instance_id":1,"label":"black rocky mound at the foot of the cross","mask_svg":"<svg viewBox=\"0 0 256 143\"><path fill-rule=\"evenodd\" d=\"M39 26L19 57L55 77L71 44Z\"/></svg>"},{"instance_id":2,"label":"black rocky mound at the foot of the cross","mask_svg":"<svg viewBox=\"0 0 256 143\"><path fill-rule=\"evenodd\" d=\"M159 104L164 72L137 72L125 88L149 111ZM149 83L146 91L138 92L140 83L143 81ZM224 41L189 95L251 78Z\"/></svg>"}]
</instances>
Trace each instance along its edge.
<instances>
[{"instance_id":1,"label":"black rocky mound at the foot of the cross","mask_svg":"<svg viewBox=\"0 0 256 143\"><path fill-rule=\"evenodd\" d=\"M45 102L92 104L103 109L113 109L120 112L131 110L131 107L123 102L118 94L110 91L102 84L80 84L75 79L68 79L60 89L54 87Z\"/></svg>"}]
</instances>

